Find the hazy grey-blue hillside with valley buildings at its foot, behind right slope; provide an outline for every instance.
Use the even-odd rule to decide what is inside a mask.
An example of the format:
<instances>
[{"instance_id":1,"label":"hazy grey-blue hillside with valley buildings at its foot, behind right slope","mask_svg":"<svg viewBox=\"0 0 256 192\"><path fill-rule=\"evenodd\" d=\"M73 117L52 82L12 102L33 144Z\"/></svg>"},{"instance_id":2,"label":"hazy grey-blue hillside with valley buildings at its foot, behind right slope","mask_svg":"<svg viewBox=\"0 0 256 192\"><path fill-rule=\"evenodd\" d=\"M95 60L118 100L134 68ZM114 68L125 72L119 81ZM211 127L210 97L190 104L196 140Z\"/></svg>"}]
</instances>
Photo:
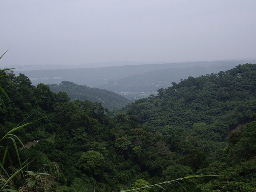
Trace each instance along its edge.
<instances>
[{"instance_id":1,"label":"hazy grey-blue hillside with valley buildings at its foot, behind right slope","mask_svg":"<svg viewBox=\"0 0 256 192\"><path fill-rule=\"evenodd\" d=\"M192 67L192 68L168 68L155 70L140 75L132 75L116 81L109 81L100 88L114 91L130 100L134 98L156 95L159 88L167 88L171 82L180 82L188 76L201 76L228 70L230 66Z\"/></svg>"}]
</instances>

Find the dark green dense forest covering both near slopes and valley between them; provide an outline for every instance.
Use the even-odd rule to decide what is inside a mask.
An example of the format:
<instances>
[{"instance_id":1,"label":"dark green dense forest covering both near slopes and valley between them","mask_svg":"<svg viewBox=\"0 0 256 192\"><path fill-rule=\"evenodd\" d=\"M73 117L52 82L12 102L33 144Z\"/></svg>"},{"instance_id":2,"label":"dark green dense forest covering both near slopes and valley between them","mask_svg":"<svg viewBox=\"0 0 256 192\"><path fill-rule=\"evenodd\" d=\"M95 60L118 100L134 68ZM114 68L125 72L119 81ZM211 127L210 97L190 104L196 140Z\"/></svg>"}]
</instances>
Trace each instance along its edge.
<instances>
[{"instance_id":1,"label":"dark green dense forest covering both near slopes and valley between them","mask_svg":"<svg viewBox=\"0 0 256 192\"><path fill-rule=\"evenodd\" d=\"M5 74L12 71L0 75ZM9 97L0 92L1 136L20 122L52 114L16 135L30 143L20 148L22 162L35 158L28 170L58 164L54 190L120 191L210 173L220 176L196 179L202 188L193 182L182 185L191 191L256 191L256 64L189 76L111 116L101 103L70 101L66 92L53 93L42 83L33 86L24 74L2 76L0 86ZM13 148L12 142L0 145ZM12 164L18 165L15 152L9 151ZM22 182L15 180L13 187ZM164 188L184 190L178 183L175 189Z\"/></svg>"}]
</instances>

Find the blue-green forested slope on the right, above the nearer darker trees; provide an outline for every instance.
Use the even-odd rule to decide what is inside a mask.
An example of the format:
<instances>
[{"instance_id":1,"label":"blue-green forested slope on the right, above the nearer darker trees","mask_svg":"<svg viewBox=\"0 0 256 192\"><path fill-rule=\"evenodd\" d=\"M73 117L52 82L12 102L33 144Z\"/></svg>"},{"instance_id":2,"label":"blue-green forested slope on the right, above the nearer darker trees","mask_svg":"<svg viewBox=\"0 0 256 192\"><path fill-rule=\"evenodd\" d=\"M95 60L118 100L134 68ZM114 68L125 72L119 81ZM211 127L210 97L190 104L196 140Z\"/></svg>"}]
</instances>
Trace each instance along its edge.
<instances>
[{"instance_id":1,"label":"blue-green forested slope on the right, above the nearer darker trees","mask_svg":"<svg viewBox=\"0 0 256 192\"><path fill-rule=\"evenodd\" d=\"M208 138L222 141L237 125L253 119L255 89L256 65L238 65L226 72L173 82L159 89L158 96L135 100L125 111L138 116L138 122L153 132L193 131L200 122Z\"/></svg>"}]
</instances>

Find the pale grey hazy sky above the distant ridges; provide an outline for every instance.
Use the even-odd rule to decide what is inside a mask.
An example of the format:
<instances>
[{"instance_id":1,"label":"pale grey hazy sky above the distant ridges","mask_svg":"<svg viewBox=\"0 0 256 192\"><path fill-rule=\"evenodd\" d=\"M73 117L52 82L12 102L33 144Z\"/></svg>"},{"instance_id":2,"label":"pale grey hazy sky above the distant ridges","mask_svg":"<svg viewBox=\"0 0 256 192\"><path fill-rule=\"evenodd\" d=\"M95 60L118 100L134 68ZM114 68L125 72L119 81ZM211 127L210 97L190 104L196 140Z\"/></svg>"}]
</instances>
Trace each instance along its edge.
<instances>
[{"instance_id":1,"label":"pale grey hazy sky above the distant ridges","mask_svg":"<svg viewBox=\"0 0 256 192\"><path fill-rule=\"evenodd\" d=\"M2 0L8 65L256 57L256 0Z\"/></svg>"}]
</instances>

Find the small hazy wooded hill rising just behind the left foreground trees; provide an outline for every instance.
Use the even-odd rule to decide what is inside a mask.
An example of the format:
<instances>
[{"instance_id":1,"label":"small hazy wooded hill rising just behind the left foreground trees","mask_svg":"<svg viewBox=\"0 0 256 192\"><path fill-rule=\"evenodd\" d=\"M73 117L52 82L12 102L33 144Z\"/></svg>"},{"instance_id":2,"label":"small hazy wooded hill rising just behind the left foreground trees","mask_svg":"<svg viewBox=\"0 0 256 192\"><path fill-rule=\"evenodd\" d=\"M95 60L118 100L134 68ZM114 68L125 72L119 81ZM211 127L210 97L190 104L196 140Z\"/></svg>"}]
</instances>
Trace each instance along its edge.
<instances>
[{"instance_id":1,"label":"small hazy wooded hill rising just behind the left foreground trees","mask_svg":"<svg viewBox=\"0 0 256 192\"><path fill-rule=\"evenodd\" d=\"M89 100L102 103L102 106L108 109L120 109L130 102L128 99L112 91L77 85L69 81L62 81L60 84L48 84L48 86L54 93L59 91L66 92L72 101L76 99L81 101Z\"/></svg>"}]
</instances>

